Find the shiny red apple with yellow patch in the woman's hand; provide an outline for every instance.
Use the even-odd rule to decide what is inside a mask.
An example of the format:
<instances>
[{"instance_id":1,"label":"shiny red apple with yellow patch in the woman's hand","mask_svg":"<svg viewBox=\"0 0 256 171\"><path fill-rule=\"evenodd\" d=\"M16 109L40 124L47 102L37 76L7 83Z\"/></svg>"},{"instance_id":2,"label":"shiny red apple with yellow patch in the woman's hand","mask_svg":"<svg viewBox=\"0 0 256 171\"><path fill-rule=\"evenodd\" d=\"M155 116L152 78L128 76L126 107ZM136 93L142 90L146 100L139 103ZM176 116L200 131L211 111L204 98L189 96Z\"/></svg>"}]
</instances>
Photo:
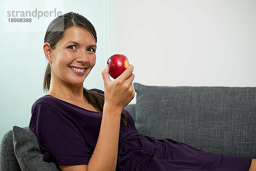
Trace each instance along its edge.
<instances>
[{"instance_id":1,"label":"shiny red apple with yellow patch in the woman's hand","mask_svg":"<svg viewBox=\"0 0 256 171\"><path fill-rule=\"evenodd\" d=\"M109 75L116 79L121 75L128 67L129 62L125 55L116 54L108 59Z\"/></svg>"}]
</instances>

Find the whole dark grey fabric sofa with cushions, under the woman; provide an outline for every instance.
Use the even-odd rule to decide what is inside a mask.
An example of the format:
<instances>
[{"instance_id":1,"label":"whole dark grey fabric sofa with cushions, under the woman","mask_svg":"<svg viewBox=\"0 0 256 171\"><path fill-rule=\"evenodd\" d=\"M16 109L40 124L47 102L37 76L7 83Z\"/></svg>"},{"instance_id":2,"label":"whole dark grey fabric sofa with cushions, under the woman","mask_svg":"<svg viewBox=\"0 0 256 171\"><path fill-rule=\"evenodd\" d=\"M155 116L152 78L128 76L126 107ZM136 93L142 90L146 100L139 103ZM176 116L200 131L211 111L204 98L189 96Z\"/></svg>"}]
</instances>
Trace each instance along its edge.
<instances>
[{"instance_id":1,"label":"whole dark grey fabric sofa with cushions, under the woman","mask_svg":"<svg viewBox=\"0 0 256 171\"><path fill-rule=\"evenodd\" d=\"M134 83L125 107L137 130L216 154L256 158L256 87L154 87ZM57 171L35 134L14 126L0 146L0 171Z\"/></svg>"}]
</instances>

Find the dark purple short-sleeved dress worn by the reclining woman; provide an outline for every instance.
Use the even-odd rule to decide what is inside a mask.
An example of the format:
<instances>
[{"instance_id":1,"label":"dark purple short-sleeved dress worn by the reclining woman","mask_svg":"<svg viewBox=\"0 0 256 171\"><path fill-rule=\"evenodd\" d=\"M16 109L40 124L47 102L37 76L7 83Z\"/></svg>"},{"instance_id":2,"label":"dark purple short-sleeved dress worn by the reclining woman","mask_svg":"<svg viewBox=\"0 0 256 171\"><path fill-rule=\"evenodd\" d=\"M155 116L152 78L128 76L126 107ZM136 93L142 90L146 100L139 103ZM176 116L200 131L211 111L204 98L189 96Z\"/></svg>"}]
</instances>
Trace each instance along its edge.
<instances>
[{"instance_id":1,"label":"dark purple short-sleeved dress worn by the reclining woman","mask_svg":"<svg viewBox=\"0 0 256 171\"><path fill-rule=\"evenodd\" d=\"M145 136L135 128L130 113L126 113L128 125L120 125L116 171L248 171L250 168L251 158L212 154L169 138ZM32 106L29 128L38 137L44 161L87 165L101 121L102 113L45 95Z\"/></svg>"}]
</instances>

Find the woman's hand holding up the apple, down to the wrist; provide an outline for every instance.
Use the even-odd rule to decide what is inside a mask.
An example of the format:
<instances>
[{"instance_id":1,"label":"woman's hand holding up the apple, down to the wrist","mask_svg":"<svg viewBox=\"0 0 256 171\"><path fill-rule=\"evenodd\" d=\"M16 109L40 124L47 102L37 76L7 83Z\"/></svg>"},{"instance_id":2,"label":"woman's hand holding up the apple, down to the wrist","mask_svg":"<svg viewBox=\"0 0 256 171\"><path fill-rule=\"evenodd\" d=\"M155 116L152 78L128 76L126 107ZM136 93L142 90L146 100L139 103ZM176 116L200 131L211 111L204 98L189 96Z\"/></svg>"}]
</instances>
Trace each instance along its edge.
<instances>
[{"instance_id":1,"label":"woman's hand holding up the apple, down to the wrist","mask_svg":"<svg viewBox=\"0 0 256 171\"><path fill-rule=\"evenodd\" d=\"M134 80L133 65L129 67L116 80L111 81L108 64L102 71L104 81L105 104L113 109L122 110L134 98L135 92L132 86ZM120 113L121 114L121 113Z\"/></svg>"}]
</instances>

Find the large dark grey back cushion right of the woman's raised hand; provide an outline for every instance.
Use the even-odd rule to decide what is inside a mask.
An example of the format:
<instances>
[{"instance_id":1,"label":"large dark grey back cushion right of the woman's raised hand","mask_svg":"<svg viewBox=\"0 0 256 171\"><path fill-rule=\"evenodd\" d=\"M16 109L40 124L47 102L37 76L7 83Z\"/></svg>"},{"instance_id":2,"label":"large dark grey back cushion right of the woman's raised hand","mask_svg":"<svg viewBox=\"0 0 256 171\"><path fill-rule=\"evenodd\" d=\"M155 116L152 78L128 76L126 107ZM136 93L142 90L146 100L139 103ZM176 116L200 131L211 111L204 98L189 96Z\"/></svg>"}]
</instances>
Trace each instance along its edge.
<instances>
[{"instance_id":1,"label":"large dark grey back cushion right of the woman's raised hand","mask_svg":"<svg viewBox=\"0 0 256 171\"><path fill-rule=\"evenodd\" d=\"M136 128L217 154L256 157L256 88L134 83Z\"/></svg>"}]
</instances>

